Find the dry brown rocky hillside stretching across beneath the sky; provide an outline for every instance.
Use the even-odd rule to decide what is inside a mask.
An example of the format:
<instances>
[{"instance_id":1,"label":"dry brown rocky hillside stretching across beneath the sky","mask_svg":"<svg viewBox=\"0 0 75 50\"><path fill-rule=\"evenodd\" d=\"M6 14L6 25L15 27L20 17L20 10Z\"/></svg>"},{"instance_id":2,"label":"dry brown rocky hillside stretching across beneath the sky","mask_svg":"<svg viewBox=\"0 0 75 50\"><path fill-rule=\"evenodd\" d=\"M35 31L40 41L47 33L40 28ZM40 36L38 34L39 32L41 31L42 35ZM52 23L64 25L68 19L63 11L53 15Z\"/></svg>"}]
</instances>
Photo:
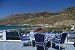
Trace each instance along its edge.
<instances>
[{"instance_id":1,"label":"dry brown rocky hillside stretching across beneath the sky","mask_svg":"<svg viewBox=\"0 0 75 50\"><path fill-rule=\"evenodd\" d=\"M13 14L0 19L0 25L75 24L75 6L53 13L49 11Z\"/></svg>"}]
</instances>

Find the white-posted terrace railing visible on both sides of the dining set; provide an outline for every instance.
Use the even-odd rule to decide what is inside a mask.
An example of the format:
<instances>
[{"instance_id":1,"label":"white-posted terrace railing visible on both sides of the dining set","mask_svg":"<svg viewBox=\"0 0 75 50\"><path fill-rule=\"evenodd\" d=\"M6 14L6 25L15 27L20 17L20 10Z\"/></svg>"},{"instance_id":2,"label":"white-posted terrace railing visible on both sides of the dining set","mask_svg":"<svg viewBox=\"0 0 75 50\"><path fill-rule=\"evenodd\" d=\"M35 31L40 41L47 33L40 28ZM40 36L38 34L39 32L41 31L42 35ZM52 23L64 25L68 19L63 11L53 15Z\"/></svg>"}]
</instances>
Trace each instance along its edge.
<instances>
[{"instance_id":1,"label":"white-posted terrace railing visible on both sides of the dining set","mask_svg":"<svg viewBox=\"0 0 75 50\"><path fill-rule=\"evenodd\" d=\"M0 31L0 35L1 35L0 39L3 40L3 41L7 41L7 40L17 41L17 40L20 40L18 32ZM70 43L75 42L75 33L74 34L68 33L66 43L68 43L68 42L70 42Z\"/></svg>"}]
</instances>

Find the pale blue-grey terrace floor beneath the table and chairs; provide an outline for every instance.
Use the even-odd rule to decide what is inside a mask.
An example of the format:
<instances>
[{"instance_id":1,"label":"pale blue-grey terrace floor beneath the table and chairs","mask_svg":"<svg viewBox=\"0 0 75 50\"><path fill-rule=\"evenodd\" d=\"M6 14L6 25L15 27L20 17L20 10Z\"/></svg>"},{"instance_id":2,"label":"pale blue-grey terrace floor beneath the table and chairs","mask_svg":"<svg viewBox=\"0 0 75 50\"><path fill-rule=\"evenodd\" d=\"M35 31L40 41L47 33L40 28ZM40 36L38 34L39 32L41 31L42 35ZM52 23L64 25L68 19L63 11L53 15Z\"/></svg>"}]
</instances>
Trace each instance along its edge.
<instances>
[{"instance_id":1,"label":"pale blue-grey terrace floor beneath the table and chairs","mask_svg":"<svg viewBox=\"0 0 75 50\"><path fill-rule=\"evenodd\" d=\"M24 46L21 48L21 42L0 42L0 50L36 50L36 47ZM58 50L54 48L49 48L48 50ZM62 49L64 50L64 49ZM66 44L66 50L75 50L72 44Z\"/></svg>"}]
</instances>

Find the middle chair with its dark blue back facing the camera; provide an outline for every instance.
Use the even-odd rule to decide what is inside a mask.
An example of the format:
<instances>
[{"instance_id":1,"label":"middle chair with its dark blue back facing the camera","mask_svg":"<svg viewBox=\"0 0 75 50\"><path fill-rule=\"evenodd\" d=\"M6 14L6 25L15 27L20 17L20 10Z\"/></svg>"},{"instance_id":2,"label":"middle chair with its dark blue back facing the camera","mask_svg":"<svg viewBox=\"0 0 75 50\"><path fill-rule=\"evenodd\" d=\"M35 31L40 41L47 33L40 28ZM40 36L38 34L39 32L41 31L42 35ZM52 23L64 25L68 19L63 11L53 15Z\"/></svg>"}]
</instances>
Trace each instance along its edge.
<instances>
[{"instance_id":1,"label":"middle chair with its dark blue back facing the camera","mask_svg":"<svg viewBox=\"0 0 75 50\"><path fill-rule=\"evenodd\" d=\"M45 35L43 34L35 34L35 45L36 46L42 46L44 47L44 50L45 50Z\"/></svg>"}]
</instances>

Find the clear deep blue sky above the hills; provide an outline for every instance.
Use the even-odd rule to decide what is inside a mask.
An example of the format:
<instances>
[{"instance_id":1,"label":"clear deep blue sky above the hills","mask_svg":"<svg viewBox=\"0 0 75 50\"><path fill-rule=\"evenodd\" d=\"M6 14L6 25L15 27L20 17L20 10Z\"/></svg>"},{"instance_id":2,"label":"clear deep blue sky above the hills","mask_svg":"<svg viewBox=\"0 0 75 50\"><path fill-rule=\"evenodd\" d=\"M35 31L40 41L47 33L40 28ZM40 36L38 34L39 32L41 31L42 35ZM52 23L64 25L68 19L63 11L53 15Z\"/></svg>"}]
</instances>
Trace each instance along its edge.
<instances>
[{"instance_id":1,"label":"clear deep blue sky above the hills","mask_svg":"<svg viewBox=\"0 0 75 50\"><path fill-rule=\"evenodd\" d=\"M0 18L24 12L58 12L75 6L75 0L0 0Z\"/></svg>"}]
</instances>

